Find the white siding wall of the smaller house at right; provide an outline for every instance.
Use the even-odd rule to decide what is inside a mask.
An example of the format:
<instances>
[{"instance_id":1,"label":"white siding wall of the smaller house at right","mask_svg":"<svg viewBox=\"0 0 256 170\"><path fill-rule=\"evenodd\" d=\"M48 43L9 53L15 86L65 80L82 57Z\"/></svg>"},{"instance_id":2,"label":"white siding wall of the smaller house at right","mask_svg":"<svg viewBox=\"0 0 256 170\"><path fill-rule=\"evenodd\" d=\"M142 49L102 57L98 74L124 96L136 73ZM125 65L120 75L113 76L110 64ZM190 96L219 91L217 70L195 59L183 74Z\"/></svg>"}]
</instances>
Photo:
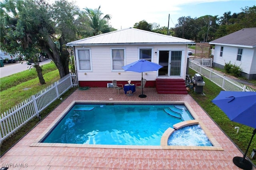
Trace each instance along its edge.
<instances>
[{"instance_id":1,"label":"white siding wall of the smaller house at right","mask_svg":"<svg viewBox=\"0 0 256 170\"><path fill-rule=\"evenodd\" d=\"M222 57L220 57L220 47L223 46L223 54ZM239 47L242 48L242 47ZM215 45L214 50L214 63L218 63L221 65L225 65L225 63L229 63L231 61L231 64L236 64L237 66L240 66L242 68L242 72L250 73L250 68L255 68L255 66L252 66L253 63L253 56L255 61L255 53L254 49L251 48L242 48L243 54L241 61L237 61L237 53L238 53L238 47L231 47L231 46L225 46L225 45Z\"/></svg>"}]
</instances>

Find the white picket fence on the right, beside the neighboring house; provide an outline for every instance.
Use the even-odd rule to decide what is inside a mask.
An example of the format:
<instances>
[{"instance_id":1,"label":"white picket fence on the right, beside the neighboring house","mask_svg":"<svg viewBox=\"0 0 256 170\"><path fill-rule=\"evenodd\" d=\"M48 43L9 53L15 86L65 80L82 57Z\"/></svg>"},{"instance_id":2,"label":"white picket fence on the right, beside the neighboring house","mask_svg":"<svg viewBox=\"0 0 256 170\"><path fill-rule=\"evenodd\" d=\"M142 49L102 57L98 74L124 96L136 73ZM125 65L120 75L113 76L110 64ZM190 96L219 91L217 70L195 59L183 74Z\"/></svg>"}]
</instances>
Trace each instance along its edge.
<instances>
[{"instance_id":1,"label":"white picket fence on the right, beside the neighboring house","mask_svg":"<svg viewBox=\"0 0 256 170\"><path fill-rule=\"evenodd\" d=\"M232 78L225 76L223 73L213 70L212 68L206 67L208 66L206 59L189 59L189 67L202 76L205 76L212 82L214 82L217 86L222 88L225 91L235 91L235 92L256 92L256 90L242 84ZM206 63L206 65L204 65Z\"/></svg>"}]
</instances>

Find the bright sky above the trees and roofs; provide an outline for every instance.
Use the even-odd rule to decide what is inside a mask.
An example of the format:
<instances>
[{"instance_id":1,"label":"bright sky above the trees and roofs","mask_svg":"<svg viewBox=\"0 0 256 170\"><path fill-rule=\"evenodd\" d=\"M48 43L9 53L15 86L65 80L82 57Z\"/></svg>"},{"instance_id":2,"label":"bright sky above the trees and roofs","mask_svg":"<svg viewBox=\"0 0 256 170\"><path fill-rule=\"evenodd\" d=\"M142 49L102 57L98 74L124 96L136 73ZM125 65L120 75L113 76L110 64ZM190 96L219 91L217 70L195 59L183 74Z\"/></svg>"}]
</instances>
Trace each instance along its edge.
<instances>
[{"instance_id":1,"label":"bright sky above the trees and roofs","mask_svg":"<svg viewBox=\"0 0 256 170\"><path fill-rule=\"evenodd\" d=\"M239 13L241 8L256 5L256 0L68 0L74 1L80 9L98 9L109 14L109 24L116 29L133 27L135 23L146 20L160 27L175 27L178 18L190 16L199 18L205 15L223 16L225 12ZM159 2L159 3L158 3Z\"/></svg>"}]
</instances>

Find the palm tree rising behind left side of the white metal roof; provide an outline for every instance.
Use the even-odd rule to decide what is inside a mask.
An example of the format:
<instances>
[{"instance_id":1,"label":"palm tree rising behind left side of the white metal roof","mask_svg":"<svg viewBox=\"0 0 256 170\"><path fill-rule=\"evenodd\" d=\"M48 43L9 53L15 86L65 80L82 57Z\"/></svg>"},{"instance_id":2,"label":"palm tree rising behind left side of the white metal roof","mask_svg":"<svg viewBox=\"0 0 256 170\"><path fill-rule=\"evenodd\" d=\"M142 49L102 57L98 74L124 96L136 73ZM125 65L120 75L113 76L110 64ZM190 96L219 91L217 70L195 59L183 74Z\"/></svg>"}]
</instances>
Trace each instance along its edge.
<instances>
[{"instance_id":1,"label":"palm tree rising behind left side of the white metal roof","mask_svg":"<svg viewBox=\"0 0 256 170\"><path fill-rule=\"evenodd\" d=\"M90 29L87 30L89 36L99 35L102 33L107 33L115 31L116 29L109 27L108 20L110 20L110 15L105 15L102 17L103 13L100 11L100 6L98 9L84 8L89 20L88 25Z\"/></svg>"}]
</instances>

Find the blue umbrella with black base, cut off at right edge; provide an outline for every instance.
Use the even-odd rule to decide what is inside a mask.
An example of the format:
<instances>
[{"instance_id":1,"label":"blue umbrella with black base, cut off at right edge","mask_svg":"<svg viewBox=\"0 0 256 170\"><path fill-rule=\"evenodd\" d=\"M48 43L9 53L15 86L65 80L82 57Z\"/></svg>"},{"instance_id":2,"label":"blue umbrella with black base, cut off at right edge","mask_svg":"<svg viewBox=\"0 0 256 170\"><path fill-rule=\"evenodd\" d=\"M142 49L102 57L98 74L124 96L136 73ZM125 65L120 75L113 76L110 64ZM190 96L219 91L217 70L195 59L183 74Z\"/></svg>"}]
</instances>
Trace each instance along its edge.
<instances>
[{"instance_id":1,"label":"blue umbrella with black base, cut off at right edge","mask_svg":"<svg viewBox=\"0 0 256 170\"><path fill-rule=\"evenodd\" d=\"M252 163L245 157L256 133L256 92L221 91L212 102L220 107L231 121L254 128L244 156L233 158L236 166L244 170L251 170Z\"/></svg>"}]
</instances>

